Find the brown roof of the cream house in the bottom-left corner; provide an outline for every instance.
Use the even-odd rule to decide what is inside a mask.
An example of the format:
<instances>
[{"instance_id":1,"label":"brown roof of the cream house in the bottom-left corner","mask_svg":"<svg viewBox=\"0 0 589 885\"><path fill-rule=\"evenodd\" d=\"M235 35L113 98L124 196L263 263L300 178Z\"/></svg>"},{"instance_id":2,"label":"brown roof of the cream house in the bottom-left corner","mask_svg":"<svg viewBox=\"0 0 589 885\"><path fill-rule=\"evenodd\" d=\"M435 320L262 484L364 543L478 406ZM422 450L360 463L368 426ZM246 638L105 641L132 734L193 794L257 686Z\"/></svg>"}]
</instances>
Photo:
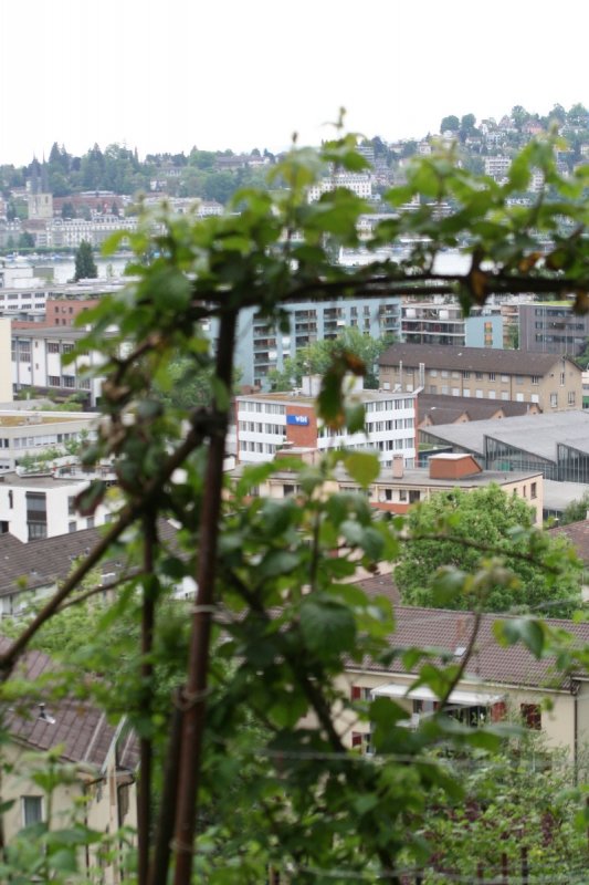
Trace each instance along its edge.
<instances>
[{"instance_id":1,"label":"brown roof of the cream house in the bottom-left corner","mask_svg":"<svg viewBox=\"0 0 589 885\"><path fill-rule=\"evenodd\" d=\"M6 652L10 644L10 639L0 636L0 652ZM14 669L17 676L28 680L52 671L57 671L56 665L42 652L27 652ZM9 709L6 714L3 721L13 738L41 751L63 745L62 759L102 768L116 735L116 728L108 725L102 710L71 698L52 700L46 707L31 698L29 709L30 715L22 709ZM136 767L137 742L132 736L122 740L118 762L125 768Z\"/></svg>"}]
</instances>

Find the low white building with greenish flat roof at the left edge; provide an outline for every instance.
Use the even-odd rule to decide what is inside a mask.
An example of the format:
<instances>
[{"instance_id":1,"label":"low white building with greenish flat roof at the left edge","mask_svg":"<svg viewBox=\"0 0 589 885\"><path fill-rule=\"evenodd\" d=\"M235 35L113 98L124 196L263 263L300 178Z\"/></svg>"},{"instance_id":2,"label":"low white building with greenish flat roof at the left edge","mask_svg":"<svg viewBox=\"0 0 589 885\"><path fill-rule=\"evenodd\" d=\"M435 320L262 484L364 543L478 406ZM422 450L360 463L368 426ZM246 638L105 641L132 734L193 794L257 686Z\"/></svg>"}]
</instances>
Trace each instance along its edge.
<instances>
[{"instance_id":1,"label":"low white building with greenish flat roof at the left edge","mask_svg":"<svg viewBox=\"0 0 589 885\"><path fill-rule=\"evenodd\" d=\"M24 455L83 440L95 424L96 415L84 412L0 410L0 473L14 470Z\"/></svg>"}]
</instances>

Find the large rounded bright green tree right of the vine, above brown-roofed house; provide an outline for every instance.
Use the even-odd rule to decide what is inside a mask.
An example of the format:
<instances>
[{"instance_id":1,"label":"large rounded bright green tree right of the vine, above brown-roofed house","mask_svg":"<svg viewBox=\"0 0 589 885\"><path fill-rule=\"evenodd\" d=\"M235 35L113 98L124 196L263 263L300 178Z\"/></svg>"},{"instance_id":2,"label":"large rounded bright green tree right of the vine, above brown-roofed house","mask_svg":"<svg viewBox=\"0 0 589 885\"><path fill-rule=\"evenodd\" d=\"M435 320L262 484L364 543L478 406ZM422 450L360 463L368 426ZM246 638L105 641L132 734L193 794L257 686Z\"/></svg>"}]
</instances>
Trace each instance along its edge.
<instances>
[{"instance_id":1,"label":"large rounded bright green tree right of the vine, above brown-roofed house","mask_svg":"<svg viewBox=\"0 0 589 885\"><path fill-rule=\"evenodd\" d=\"M534 517L535 511L526 501L507 494L498 486L441 492L416 507L409 516L413 538L395 570L403 602L466 611L473 607L486 612L544 611L555 617L570 616L581 598L580 563L571 559L570 568L555 584L550 575L530 562L526 556L530 537L548 556L566 554L570 546L565 539L553 539L535 530ZM449 595L444 585L448 570L472 572L488 556L490 550L504 553L514 580L491 582L483 587L465 585L464 593Z\"/></svg>"}]
</instances>

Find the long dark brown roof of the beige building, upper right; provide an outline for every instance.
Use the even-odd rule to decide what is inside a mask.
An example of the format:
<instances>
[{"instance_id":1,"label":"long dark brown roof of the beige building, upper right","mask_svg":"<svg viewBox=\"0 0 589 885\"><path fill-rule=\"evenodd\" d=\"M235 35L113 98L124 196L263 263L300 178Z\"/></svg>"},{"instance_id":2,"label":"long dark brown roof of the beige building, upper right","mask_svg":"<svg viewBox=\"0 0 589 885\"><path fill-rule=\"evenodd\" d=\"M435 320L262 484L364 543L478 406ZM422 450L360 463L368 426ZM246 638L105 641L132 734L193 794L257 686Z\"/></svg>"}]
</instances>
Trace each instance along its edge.
<instances>
[{"instance_id":1,"label":"long dark brown roof of the beige building, upper right","mask_svg":"<svg viewBox=\"0 0 589 885\"><path fill-rule=\"evenodd\" d=\"M505 375L546 375L556 363L562 360L577 365L572 360L554 353L532 353L527 351L506 351L499 347L461 347L459 345L392 344L379 363L381 366L460 369L466 372L502 372ZM580 372L580 368L579 368Z\"/></svg>"}]
</instances>

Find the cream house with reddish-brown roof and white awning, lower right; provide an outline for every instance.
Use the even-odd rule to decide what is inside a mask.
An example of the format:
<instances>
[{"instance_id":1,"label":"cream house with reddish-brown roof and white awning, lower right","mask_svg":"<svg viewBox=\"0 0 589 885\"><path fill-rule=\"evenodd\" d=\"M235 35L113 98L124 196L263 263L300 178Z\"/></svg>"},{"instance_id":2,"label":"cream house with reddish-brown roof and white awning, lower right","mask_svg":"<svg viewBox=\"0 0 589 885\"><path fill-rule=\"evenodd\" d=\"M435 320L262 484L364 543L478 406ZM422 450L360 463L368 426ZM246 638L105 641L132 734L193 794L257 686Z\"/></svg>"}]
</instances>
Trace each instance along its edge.
<instances>
[{"instance_id":1,"label":"cream house with reddish-brown roof and white awning, lower right","mask_svg":"<svg viewBox=\"0 0 589 885\"><path fill-rule=\"evenodd\" d=\"M520 643L501 646L494 631L497 620L497 615L481 616L473 655L450 695L448 715L471 726L499 721L506 715L518 717L527 728L544 732L547 747L565 749L576 763L580 748L589 739L587 673L558 671L554 656L537 659ZM507 615L501 616L501 621L508 620ZM437 697L428 686L411 687L419 676L419 664L407 669L399 652L435 648L460 664L475 628L475 617L465 612L396 605L395 622L390 644L398 654L392 663L350 660L337 687L351 700L388 697L406 710L407 723L417 727L433 714ZM588 622L548 618L546 623L570 633L577 647L589 643ZM358 721L351 709L341 714L338 727L348 746L369 746L369 726Z\"/></svg>"}]
</instances>

